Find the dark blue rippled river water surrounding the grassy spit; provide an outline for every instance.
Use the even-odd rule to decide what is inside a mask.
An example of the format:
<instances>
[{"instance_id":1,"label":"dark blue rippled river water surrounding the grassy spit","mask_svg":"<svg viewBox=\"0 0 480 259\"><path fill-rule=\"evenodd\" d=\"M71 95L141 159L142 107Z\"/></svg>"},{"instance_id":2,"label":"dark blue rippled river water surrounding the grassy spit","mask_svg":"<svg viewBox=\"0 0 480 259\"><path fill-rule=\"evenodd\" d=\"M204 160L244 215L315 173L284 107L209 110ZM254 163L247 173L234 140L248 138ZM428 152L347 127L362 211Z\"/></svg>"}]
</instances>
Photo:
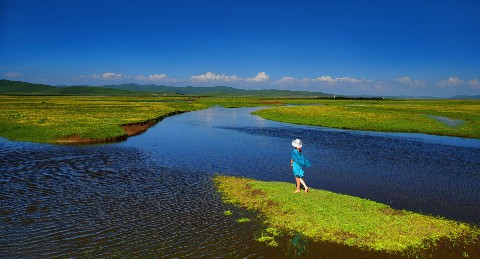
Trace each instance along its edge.
<instances>
[{"instance_id":1,"label":"dark blue rippled river water surrounding the grassy spit","mask_svg":"<svg viewBox=\"0 0 480 259\"><path fill-rule=\"evenodd\" d=\"M480 140L289 125L255 109L176 115L115 144L0 140L0 258L284 257L254 241L260 222L238 223L254 215L224 205L211 177L293 184L294 138L313 188L480 223Z\"/></svg>"}]
</instances>

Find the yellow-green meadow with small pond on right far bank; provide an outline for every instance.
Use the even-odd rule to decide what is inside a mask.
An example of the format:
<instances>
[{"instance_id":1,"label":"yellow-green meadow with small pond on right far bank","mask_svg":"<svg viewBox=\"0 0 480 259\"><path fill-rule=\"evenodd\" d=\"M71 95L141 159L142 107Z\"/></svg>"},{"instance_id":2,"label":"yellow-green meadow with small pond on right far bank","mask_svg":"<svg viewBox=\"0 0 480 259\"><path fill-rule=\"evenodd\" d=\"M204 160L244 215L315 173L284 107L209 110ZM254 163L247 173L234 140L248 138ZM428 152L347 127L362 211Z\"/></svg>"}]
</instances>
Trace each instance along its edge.
<instances>
[{"instance_id":1,"label":"yellow-green meadow with small pond on right far bank","mask_svg":"<svg viewBox=\"0 0 480 259\"><path fill-rule=\"evenodd\" d=\"M480 138L478 100L296 100L289 103L301 106L268 108L254 114L270 120L340 129ZM459 123L448 125L441 119Z\"/></svg>"}]
</instances>

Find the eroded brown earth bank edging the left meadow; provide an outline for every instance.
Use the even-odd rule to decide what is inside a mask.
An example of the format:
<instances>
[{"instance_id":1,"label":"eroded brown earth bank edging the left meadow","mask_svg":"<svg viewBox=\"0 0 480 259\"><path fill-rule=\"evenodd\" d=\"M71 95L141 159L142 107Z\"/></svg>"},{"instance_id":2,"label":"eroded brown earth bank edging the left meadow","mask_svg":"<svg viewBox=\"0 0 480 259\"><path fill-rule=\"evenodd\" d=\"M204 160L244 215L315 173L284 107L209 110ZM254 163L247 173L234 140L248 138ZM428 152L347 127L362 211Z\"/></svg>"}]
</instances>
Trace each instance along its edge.
<instances>
[{"instance_id":1,"label":"eroded brown earth bank edging the left meadow","mask_svg":"<svg viewBox=\"0 0 480 259\"><path fill-rule=\"evenodd\" d=\"M161 116L158 116L154 119L148 119L142 122L132 122L120 125L125 134L120 136L108 137L108 138L82 138L79 135L70 135L63 137L54 141L54 144L65 144L65 145L88 145L88 144L105 144L105 143L115 143L122 142L128 139L128 137L133 137L140 135L147 131L150 127L155 126L157 123L163 119L185 113L186 111L174 111Z\"/></svg>"}]
</instances>

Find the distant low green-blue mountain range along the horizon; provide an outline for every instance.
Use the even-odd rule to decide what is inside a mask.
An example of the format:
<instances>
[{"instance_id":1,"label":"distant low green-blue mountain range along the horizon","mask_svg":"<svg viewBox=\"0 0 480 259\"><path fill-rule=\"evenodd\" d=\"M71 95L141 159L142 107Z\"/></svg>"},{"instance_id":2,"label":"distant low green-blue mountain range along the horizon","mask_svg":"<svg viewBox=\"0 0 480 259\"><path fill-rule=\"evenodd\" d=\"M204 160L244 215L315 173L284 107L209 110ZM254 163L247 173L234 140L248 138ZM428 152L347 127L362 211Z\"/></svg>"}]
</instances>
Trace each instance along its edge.
<instances>
[{"instance_id":1,"label":"distant low green-blue mountain range along the horizon","mask_svg":"<svg viewBox=\"0 0 480 259\"><path fill-rule=\"evenodd\" d=\"M175 87L165 85L51 86L0 80L0 94L8 95L168 95L168 96L258 96L333 97L332 94L290 90L245 90L228 86Z\"/></svg>"}]
</instances>

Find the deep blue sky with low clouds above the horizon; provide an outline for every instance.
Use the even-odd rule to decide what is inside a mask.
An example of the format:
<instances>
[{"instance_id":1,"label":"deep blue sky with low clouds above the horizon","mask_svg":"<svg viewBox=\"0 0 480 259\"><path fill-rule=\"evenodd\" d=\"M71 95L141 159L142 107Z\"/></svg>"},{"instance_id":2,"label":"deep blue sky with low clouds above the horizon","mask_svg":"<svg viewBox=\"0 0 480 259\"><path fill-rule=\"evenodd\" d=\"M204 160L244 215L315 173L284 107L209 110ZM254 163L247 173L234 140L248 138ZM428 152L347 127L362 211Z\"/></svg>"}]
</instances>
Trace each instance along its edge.
<instances>
[{"instance_id":1,"label":"deep blue sky with low clouds above the horizon","mask_svg":"<svg viewBox=\"0 0 480 259\"><path fill-rule=\"evenodd\" d=\"M0 0L0 78L480 94L480 1Z\"/></svg>"}]
</instances>

